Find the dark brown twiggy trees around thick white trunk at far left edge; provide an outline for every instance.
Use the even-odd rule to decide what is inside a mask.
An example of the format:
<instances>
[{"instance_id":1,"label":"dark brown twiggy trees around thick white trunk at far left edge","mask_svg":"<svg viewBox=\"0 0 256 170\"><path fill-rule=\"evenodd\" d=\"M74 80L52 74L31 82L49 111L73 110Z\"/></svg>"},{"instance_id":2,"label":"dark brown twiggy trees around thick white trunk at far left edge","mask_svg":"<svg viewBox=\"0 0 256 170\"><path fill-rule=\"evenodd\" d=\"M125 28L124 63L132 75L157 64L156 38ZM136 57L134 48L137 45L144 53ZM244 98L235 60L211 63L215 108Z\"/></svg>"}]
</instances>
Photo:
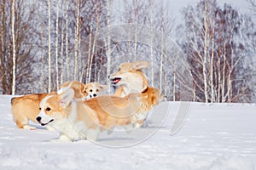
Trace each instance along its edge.
<instances>
[{"instance_id":1,"label":"dark brown twiggy trees around thick white trunk at far left edge","mask_svg":"<svg viewBox=\"0 0 256 170\"><path fill-rule=\"evenodd\" d=\"M0 8L0 94L25 94L32 90L29 81L35 61L34 3L1 1Z\"/></svg>"}]
</instances>

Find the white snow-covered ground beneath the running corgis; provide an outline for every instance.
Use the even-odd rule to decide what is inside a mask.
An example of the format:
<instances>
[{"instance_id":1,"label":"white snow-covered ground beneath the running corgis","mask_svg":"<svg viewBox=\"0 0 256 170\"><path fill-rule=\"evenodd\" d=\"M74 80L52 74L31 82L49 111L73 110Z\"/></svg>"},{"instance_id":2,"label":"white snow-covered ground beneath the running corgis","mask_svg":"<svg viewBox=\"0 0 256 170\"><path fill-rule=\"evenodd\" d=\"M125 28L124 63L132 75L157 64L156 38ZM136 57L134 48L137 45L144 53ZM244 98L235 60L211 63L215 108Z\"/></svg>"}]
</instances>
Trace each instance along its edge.
<instances>
[{"instance_id":1,"label":"white snow-covered ground beneath the running corgis","mask_svg":"<svg viewBox=\"0 0 256 170\"><path fill-rule=\"evenodd\" d=\"M149 127L52 143L54 131L15 127L10 99L0 96L0 169L256 169L255 104L163 102Z\"/></svg>"}]
</instances>

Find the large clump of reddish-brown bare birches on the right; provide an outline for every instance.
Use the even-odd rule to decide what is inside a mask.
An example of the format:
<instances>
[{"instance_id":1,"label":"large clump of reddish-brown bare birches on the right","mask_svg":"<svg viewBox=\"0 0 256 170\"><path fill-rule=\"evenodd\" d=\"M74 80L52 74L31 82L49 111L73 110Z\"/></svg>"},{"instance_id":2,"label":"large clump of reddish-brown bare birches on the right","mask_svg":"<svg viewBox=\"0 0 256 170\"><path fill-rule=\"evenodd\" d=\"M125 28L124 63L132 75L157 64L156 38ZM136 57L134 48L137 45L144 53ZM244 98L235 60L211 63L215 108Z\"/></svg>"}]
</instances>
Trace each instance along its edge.
<instances>
[{"instance_id":1,"label":"large clump of reddish-brown bare birches on the right","mask_svg":"<svg viewBox=\"0 0 256 170\"><path fill-rule=\"evenodd\" d=\"M215 1L207 0L185 10L183 49L194 77L195 100L244 99L241 89L245 89L245 83L237 79L246 77L242 71L246 46L240 33L241 16L230 5L219 8Z\"/></svg>"}]
</instances>

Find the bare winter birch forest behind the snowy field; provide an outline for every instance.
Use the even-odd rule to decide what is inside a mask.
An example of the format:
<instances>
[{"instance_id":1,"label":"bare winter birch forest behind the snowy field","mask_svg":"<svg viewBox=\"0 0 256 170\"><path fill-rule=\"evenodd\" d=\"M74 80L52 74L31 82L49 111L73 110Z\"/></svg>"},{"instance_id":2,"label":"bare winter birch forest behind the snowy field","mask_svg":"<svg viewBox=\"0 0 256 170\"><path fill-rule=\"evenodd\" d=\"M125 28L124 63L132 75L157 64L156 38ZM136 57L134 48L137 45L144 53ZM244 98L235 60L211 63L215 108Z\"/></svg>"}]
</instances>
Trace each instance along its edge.
<instances>
[{"instance_id":1,"label":"bare winter birch forest behind the snowy field","mask_svg":"<svg viewBox=\"0 0 256 170\"><path fill-rule=\"evenodd\" d=\"M119 64L148 60L168 100L256 102L256 1L250 14L198 0L0 0L0 94L49 93L71 80L109 84Z\"/></svg>"}]
</instances>

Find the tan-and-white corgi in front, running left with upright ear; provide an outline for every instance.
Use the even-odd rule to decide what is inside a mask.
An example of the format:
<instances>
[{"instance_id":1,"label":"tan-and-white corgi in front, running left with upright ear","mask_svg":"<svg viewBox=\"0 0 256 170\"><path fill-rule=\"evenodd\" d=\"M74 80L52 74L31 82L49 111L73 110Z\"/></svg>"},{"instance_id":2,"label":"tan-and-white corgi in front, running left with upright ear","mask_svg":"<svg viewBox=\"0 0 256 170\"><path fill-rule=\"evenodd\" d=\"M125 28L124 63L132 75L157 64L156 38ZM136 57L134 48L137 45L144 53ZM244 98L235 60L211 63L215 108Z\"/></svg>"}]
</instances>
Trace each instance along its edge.
<instances>
[{"instance_id":1,"label":"tan-and-white corgi in front, running left with upright ear","mask_svg":"<svg viewBox=\"0 0 256 170\"><path fill-rule=\"evenodd\" d=\"M49 95L40 103L37 121L49 125L60 133L57 140L96 140L99 133L115 126L131 128L133 115L139 111L141 94L129 94L124 98L99 96L85 101L74 100L74 91Z\"/></svg>"}]
</instances>

